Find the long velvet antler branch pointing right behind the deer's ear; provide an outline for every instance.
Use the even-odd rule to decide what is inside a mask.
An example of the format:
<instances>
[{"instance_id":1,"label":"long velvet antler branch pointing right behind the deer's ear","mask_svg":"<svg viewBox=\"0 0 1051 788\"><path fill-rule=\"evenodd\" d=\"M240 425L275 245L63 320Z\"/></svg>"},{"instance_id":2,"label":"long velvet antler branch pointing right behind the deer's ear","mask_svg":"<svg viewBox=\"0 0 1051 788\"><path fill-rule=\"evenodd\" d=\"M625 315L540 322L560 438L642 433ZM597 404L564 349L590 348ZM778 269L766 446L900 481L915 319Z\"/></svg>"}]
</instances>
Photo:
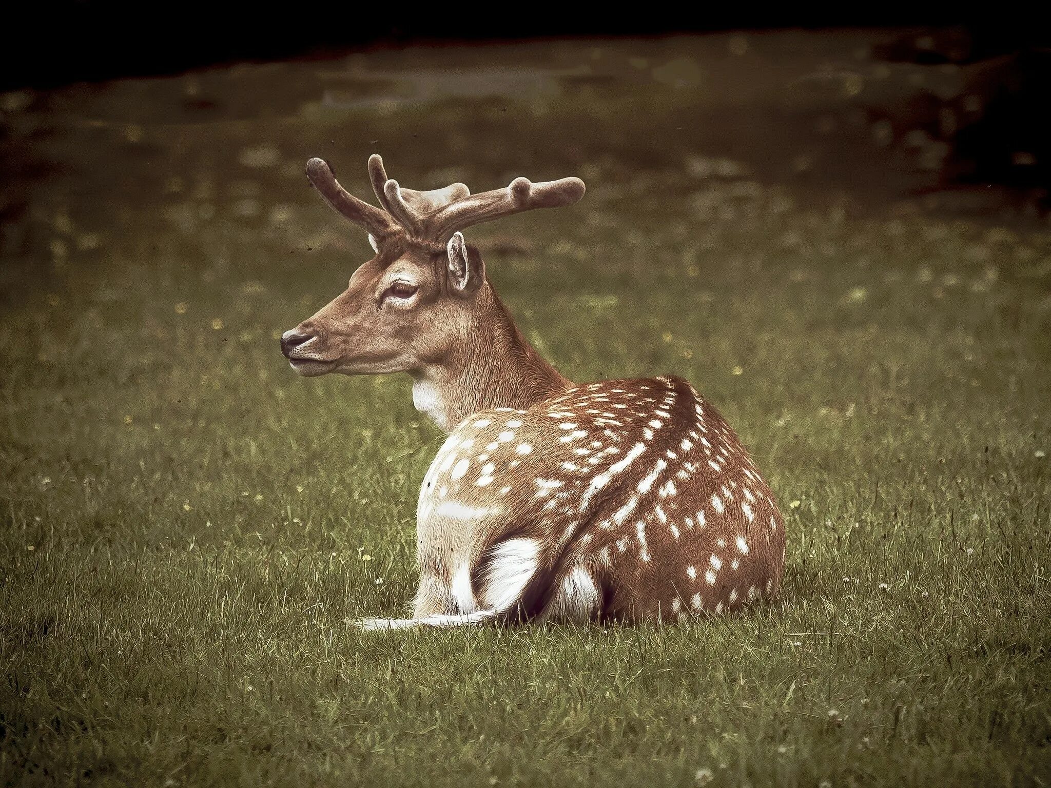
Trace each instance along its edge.
<instances>
[{"instance_id":1,"label":"long velvet antler branch pointing right behind the deer's ear","mask_svg":"<svg viewBox=\"0 0 1051 788\"><path fill-rule=\"evenodd\" d=\"M572 205L584 195L584 182L579 178L530 183L516 178L503 189L483 191L450 203L429 217L431 234L445 241L456 230L491 222L500 216L533 210Z\"/></svg>"}]
</instances>

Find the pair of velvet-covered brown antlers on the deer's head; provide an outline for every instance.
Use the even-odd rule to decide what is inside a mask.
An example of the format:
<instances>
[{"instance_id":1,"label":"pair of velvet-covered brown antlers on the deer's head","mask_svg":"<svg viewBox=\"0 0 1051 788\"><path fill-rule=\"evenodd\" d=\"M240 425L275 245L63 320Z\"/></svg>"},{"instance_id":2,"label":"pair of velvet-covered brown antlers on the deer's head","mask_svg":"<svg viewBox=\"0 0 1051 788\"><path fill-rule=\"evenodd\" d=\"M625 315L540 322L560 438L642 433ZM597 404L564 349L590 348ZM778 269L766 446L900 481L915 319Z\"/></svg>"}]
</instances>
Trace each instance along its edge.
<instances>
[{"instance_id":1,"label":"pair of velvet-covered brown antlers on the deer's head","mask_svg":"<svg viewBox=\"0 0 1051 788\"><path fill-rule=\"evenodd\" d=\"M397 181L387 178L384 160L377 153L369 157L369 180L383 210L348 194L322 159L307 162L307 178L325 202L373 236L404 231L410 237L438 244L472 225L534 208L572 205L584 195L584 183L579 178L545 183L516 178L507 188L480 194L471 194L461 183L431 191L403 189Z\"/></svg>"}]
</instances>

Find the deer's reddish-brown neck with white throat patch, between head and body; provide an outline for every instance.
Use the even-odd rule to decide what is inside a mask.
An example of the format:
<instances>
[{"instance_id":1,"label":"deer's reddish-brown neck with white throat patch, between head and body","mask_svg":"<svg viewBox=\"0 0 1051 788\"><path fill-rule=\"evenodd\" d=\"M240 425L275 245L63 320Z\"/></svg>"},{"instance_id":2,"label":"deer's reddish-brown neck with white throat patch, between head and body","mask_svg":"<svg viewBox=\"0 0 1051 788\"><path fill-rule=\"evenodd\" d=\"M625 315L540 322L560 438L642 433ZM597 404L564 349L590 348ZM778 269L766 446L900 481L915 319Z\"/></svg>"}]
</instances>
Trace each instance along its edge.
<instances>
[{"instance_id":1,"label":"deer's reddish-brown neck with white throat patch, between head and body","mask_svg":"<svg viewBox=\"0 0 1051 788\"><path fill-rule=\"evenodd\" d=\"M482 288L457 347L410 372L413 405L446 432L478 411L526 410L573 386L526 340L489 283Z\"/></svg>"}]
</instances>

